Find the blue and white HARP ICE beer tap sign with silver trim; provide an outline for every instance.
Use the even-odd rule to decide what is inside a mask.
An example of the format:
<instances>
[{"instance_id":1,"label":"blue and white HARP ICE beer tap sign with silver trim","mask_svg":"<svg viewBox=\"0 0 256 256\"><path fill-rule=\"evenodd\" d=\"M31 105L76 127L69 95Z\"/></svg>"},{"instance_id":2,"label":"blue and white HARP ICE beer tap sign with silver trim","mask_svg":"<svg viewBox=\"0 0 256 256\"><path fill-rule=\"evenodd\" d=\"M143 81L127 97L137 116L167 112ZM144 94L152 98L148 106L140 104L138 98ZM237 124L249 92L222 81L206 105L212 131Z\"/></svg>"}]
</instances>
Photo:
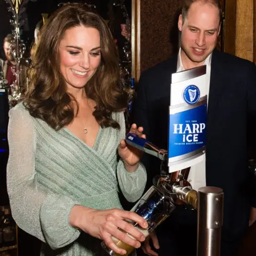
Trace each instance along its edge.
<instances>
[{"instance_id":1,"label":"blue and white HARP ICE beer tap sign with silver trim","mask_svg":"<svg viewBox=\"0 0 256 256\"><path fill-rule=\"evenodd\" d=\"M169 173L203 161L206 149L206 66L172 74Z\"/></svg>"}]
</instances>

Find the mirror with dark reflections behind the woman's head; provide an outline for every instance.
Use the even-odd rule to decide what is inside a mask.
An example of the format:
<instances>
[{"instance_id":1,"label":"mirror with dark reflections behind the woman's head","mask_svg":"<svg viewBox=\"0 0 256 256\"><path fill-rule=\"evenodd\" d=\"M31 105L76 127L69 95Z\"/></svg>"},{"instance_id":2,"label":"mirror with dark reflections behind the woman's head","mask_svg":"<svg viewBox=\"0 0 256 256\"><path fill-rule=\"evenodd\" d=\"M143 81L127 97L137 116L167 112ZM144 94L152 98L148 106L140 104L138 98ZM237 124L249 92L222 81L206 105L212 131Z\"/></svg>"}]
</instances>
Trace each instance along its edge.
<instances>
[{"instance_id":1,"label":"mirror with dark reflections behind the woman's head","mask_svg":"<svg viewBox=\"0 0 256 256\"><path fill-rule=\"evenodd\" d=\"M119 56L121 84L130 89L132 79L133 0L0 0L0 89L6 90L10 108L22 99L27 70L40 28L61 5L82 2L106 21ZM1 111L1 110L0 110Z\"/></svg>"}]
</instances>

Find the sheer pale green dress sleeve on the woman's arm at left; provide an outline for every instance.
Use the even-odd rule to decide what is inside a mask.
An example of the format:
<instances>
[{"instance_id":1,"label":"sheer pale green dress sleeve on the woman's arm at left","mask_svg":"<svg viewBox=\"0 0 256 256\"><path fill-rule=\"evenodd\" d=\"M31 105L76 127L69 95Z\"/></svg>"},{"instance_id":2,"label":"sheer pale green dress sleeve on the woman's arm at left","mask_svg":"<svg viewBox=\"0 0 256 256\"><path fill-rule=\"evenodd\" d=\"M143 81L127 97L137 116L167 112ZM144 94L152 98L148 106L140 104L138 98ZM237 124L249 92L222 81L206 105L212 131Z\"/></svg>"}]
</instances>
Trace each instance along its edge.
<instances>
[{"instance_id":1,"label":"sheer pale green dress sleeve on the woman's arm at left","mask_svg":"<svg viewBox=\"0 0 256 256\"><path fill-rule=\"evenodd\" d=\"M12 215L27 233L58 249L74 242L80 230L69 225L76 202L46 191L35 171L36 134L33 117L19 104L9 113L7 191Z\"/></svg>"}]
</instances>

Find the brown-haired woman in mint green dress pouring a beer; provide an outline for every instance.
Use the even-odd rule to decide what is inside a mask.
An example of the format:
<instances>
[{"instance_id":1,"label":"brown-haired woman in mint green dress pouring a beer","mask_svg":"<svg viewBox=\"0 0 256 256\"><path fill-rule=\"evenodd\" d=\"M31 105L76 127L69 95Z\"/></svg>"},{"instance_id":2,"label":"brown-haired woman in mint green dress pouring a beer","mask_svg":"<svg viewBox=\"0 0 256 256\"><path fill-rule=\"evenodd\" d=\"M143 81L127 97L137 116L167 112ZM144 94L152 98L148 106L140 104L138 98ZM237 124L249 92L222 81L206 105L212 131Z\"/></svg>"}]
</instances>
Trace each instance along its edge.
<instances>
[{"instance_id":1,"label":"brown-haired woman in mint green dress pouring a beer","mask_svg":"<svg viewBox=\"0 0 256 256\"><path fill-rule=\"evenodd\" d=\"M139 247L145 237L124 219L147 223L121 210L118 186L137 201L146 171L123 140L127 95L105 22L82 4L61 7L42 29L29 81L10 111L7 188L17 225L47 256L101 255L100 239L124 254L111 235Z\"/></svg>"}]
</instances>

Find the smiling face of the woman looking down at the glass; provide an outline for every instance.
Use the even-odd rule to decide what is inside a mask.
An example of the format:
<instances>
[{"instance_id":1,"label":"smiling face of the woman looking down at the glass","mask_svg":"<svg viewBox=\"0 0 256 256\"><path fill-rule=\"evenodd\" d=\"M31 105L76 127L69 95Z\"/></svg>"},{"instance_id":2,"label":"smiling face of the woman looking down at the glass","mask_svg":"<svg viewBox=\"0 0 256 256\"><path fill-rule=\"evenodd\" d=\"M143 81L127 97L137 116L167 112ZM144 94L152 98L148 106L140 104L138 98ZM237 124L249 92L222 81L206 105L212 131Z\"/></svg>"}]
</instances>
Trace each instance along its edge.
<instances>
[{"instance_id":1,"label":"smiling face of the woman looking down at the glass","mask_svg":"<svg viewBox=\"0 0 256 256\"><path fill-rule=\"evenodd\" d=\"M100 34L95 28L78 26L66 30L60 41L60 71L68 89L81 89L100 65Z\"/></svg>"}]
</instances>

